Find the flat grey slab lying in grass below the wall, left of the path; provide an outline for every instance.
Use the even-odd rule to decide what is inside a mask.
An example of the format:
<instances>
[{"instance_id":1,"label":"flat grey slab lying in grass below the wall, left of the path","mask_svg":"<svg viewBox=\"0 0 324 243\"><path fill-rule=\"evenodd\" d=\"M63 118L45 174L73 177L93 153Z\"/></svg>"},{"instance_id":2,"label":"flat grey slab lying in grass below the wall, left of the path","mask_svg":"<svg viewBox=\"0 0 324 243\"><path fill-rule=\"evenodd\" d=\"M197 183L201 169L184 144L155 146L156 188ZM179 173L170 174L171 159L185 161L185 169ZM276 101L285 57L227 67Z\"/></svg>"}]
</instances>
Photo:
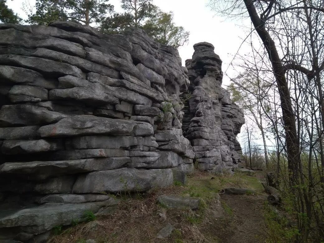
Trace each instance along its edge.
<instances>
[{"instance_id":1,"label":"flat grey slab lying in grass below the wall, left of the path","mask_svg":"<svg viewBox=\"0 0 324 243\"><path fill-rule=\"evenodd\" d=\"M197 209L200 199L195 197L182 197L180 195L160 195L157 201L164 207L177 209Z\"/></svg>"}]
</instances>

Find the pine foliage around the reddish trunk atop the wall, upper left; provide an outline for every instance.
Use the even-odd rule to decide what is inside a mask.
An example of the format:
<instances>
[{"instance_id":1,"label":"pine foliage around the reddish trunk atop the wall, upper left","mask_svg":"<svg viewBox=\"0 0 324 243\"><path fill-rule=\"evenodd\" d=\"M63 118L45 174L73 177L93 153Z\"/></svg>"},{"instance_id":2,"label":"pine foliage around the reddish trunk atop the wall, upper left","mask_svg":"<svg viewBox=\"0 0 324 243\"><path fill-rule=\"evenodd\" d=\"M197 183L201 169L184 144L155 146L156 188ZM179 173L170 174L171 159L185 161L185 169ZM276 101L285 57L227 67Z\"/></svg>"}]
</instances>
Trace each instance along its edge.
<instances>
[{"instance_id":1,"label":"pine foliage around the reddish trunk atop the wall, upper left","mask_svg":"<svg viewBox=\"0 0 324 243\"><path fill-rule=\"evenodd\" d=\"M101 22L113 6L104 0L37 0L36 12L28 15L30 24L47 25L55 20L89 25Z\"/></svg>"}]
</instances>

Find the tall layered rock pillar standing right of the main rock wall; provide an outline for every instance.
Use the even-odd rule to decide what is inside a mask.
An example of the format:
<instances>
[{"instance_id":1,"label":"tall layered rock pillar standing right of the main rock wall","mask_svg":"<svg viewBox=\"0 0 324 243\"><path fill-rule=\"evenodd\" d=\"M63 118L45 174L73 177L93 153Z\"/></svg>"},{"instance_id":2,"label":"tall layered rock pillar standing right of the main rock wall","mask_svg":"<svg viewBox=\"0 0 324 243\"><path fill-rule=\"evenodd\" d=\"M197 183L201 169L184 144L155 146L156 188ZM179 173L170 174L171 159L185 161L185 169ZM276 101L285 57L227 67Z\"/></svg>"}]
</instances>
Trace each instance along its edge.
<instances>
[{"instance_id":1,"label":"tall layered rock pillar standing right of the main rock wall","mask_svg":"<svg viewBox=\"0 0 324 243\"><path fill-rule=\"evenodd\" d=\"M186 60L190 87L181 97L184 105L182 130L191 142L199 168L214 172L232 169L241 162L236 140L245 120L228 91L221 87L222 61L214 46L197 43L192 59Z\"/></svg>"}]
</instances>

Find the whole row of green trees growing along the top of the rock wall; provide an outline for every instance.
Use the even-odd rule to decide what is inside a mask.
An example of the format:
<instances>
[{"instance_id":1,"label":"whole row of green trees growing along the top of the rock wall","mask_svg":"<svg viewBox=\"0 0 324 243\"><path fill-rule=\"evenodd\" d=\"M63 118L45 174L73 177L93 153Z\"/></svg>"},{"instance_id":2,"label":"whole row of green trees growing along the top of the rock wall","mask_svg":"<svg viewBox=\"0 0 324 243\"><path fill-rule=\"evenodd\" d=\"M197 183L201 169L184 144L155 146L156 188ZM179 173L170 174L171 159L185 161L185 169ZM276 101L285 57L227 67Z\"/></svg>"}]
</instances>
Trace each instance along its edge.
<instances>
[{"instance_id":1,"label":"whole row of green trees growing along the top of the rock wall","mask_svg":"<svg viewBox=\"0 0 324 243\"><path fill-rule=\"evenodd\" d=\"M27 19L20 18L0 0L0 22L48 25L73 21L91 25L103 33L117 34L129 27L141 28L155 41L175 48L188 42L189 32L176 26L172 12L163 12L152 0L121 0L124 12L115 12L105 0L36 0L35 6L23 5Z\"/></svg>"}]
</instances>

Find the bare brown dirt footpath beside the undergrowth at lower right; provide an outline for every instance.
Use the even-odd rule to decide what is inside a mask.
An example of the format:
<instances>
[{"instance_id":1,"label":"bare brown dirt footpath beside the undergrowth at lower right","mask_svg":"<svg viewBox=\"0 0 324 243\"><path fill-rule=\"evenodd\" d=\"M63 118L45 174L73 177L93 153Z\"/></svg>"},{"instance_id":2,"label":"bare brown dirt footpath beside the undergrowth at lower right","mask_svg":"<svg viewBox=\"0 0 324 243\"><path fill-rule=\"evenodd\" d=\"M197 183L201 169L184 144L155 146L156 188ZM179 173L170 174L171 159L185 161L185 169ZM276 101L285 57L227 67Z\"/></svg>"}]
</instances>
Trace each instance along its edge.
<instances>
[{"instance_id":1,"label":"bare brown dirt footpath beside the undergrowth at lower right","mask_svg":"<svg viewBox=\"0 0 324 243\"><path fill-rule=\"evenodd\" d=\"M266 225L263 220L264 199L254 195L221 195L222 202L231 208L230 232L222 243L262 243L266 238Z\"/></svg>"}]
</instances>

